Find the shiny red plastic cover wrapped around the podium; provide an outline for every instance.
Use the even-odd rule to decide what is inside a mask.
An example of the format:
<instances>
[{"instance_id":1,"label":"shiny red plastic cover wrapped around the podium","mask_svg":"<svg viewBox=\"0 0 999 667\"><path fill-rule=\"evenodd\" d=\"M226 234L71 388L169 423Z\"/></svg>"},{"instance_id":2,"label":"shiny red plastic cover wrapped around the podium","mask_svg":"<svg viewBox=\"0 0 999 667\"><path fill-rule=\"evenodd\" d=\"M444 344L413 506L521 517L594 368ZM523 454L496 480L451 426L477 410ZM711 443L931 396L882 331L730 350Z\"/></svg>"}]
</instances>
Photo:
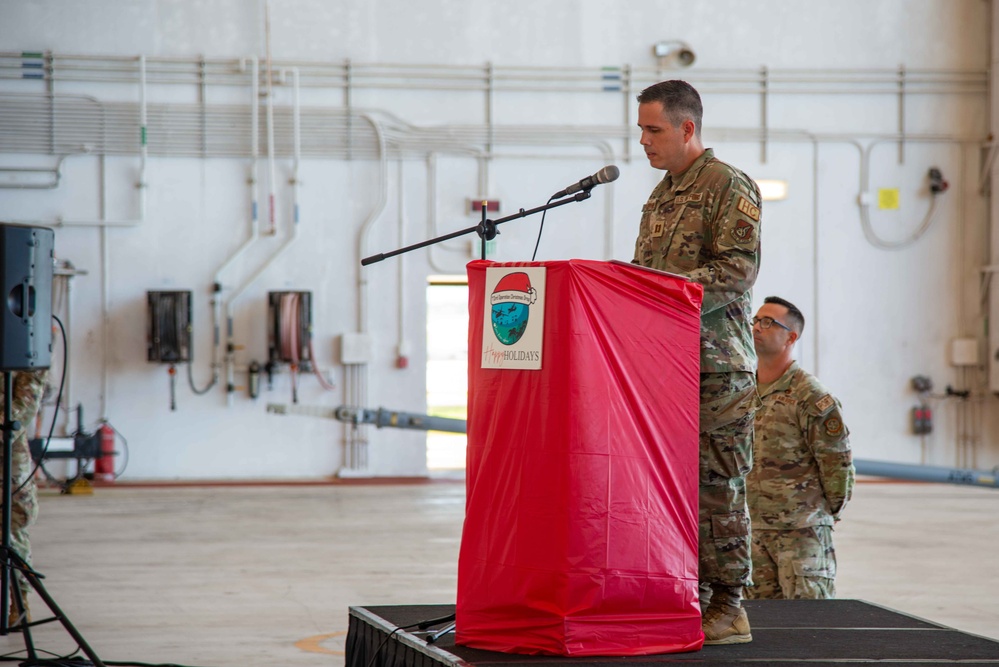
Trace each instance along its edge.
<instances>
[{"instance_id":1,"label":"shiny red plastic cover wrapped around the podium","mask_svg":"<svg viewBox=\"0 0 999 667\"><path fill-rule=\"evenodd\" d=\"M497 346L490 298L527 289L509 276L487 295L487 269L525 267L545 268L541 369L482 368L484 338ZM700 649L701 286L586 260L474 261L468 282L457 643L567 656Z\"/></svg>"}]
</instances>

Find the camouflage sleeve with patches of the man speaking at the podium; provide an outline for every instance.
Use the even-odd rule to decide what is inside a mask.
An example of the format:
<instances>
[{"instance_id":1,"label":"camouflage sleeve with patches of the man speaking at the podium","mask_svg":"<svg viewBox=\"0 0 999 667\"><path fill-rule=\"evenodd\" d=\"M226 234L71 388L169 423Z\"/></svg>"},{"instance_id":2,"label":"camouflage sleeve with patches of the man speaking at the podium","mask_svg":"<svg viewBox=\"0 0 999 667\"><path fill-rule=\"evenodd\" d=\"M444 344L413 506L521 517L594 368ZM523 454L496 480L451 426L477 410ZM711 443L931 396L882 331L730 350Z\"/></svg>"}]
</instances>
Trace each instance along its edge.
<instances>
[{"instance_id":1,"label":"camouflage sleeve with patches of the man speaking at the podium","mask_svg":"<svg viewBox=\"0 0 999 667\"><path fill-rule=\"evenodd\" d=\"M727 166L727 165L726 165ZM704 286L701 314L710 313L748 292L760 268L760 193L756 184L728 167L712 172L712 216L706 221L703 251L707 261L688 275Z\"/></svg>"}]
</instances>

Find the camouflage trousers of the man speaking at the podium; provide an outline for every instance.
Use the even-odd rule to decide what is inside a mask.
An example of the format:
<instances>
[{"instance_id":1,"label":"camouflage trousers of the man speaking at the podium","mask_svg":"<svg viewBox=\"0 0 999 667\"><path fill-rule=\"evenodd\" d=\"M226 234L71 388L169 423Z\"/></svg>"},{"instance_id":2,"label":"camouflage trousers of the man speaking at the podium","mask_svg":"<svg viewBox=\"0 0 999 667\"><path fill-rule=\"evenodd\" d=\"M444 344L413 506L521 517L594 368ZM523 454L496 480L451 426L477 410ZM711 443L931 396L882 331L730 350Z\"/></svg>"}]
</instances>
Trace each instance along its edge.
<instances>
[{"instance_id":1,"label":"camouflage trousers of the man speaking at the podium","mask_svg":"<svg viewBox=\"0 0 999 667\"><path fill-rule=\"evenodd\" d=\"M752 373L701 374L699 579L724 586L750 582L746 473L753 467Z\"/></svg>"}]
</instances>

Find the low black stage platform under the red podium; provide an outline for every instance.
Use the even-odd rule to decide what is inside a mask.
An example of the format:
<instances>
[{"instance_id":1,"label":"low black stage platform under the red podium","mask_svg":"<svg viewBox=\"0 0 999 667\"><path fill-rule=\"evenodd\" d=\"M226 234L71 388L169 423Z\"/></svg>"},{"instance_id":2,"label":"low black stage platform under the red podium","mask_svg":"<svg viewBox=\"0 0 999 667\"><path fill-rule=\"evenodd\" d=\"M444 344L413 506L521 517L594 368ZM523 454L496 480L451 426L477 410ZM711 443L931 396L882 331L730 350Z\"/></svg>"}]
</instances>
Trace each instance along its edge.
<instances>
[{"instance_id":1,"label":"low black stage platform under the red podium","mask_svg":"<svg viewBox=\"0 0 999 667\"><path fill-rule=\"evenodd\" d=\"M427 645L404 630L454 613L454 605L351 607L346 667L639 667L700 665L999 665L999 641L978 637L861 600L747 600L753 641L692 653L637 657L528 656L454 645L454 634ZM999 619L996 619L999 624ZM430 631L439 630L439 624Z\"/></svg>"}]
</instances>

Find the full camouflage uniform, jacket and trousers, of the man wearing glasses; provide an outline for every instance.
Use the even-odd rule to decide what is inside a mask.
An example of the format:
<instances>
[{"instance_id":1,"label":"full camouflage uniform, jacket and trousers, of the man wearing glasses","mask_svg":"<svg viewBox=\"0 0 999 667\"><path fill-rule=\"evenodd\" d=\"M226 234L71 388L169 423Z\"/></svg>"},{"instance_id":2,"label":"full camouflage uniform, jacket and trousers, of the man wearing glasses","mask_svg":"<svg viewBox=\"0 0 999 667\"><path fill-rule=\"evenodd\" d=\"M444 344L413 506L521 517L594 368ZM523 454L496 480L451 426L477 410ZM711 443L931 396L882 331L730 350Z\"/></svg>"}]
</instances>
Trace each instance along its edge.
<instances>
[{"instance_id":1,"label":"full camouflage uniform, jacket and trousers, of the man wearing glasses","mask_svg":"<svg viewBox=\"0 0 999 667\"><path fill-rule=\"evenodd\" d=\"M754 581L747 597L835 597L832 527L854 482L842 406L796 362L760 397L756 464L746 478Z\"/></svg>"}]
</instances>

